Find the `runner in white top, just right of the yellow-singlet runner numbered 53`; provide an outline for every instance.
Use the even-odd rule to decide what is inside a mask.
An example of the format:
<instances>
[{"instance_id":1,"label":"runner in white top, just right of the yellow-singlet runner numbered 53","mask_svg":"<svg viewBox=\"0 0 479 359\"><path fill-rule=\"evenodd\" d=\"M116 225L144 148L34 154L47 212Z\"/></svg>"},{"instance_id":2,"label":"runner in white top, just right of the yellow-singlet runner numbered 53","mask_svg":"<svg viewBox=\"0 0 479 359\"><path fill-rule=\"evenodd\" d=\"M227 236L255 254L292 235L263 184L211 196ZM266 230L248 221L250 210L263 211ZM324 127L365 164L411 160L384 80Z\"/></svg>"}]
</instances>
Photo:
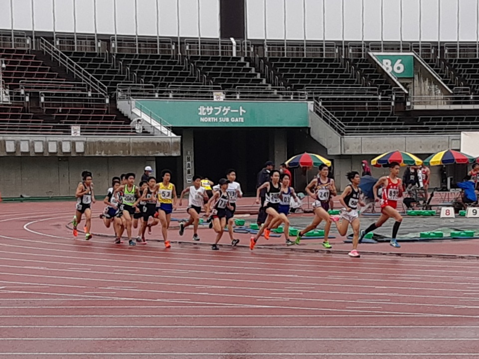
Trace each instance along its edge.
<instances>
[{"instance_id":1,"label":"runner in white top, just right of the yellow-singlet runner numbered 53","mask_svg":"<svg viewBox=\"0 0 479 359\"><path fill-rule=\"evenodd\" d=\"M201 177L193 176L193 185L185 188L181 195L179 196L179 206L181 207L181 202L183 201L183 196L189 193L188 196L188 207L186 212L189 214L189 219L187 222L180 222L179 224L179 235L183 236L184 229L190 225L193 225L193 240L199 240L198 236L198 225L199 225L199 214L201 213L201 207L203 207L204 201L208 203L208 195L203 186L201 186Z\"/></svg>"}]
</instances>

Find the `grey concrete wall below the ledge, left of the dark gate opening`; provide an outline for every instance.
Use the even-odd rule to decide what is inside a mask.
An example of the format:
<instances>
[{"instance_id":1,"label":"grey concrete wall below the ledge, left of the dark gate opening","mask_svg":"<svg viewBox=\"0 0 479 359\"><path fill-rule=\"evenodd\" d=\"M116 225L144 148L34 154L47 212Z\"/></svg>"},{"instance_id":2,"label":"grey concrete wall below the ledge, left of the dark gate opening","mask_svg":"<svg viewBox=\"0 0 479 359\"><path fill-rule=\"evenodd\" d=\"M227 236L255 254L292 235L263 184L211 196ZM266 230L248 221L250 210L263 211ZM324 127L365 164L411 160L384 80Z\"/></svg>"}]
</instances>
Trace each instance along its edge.
<instances>
[{"instance_id":1,"label":"grey concrete wall below the ledge, left of the dark gate opening","mask_svg":"<svg viewBox=\"0 0 479 359\"><path fill-rule=\"evenodd\" d=\"M3 197L73 196L81 173L89 170L97 200L103 200L113 176L134 172L139 182L147 165L155 169L155 158L0 157L0 190Z\"/></svg>"}]
</instances>

